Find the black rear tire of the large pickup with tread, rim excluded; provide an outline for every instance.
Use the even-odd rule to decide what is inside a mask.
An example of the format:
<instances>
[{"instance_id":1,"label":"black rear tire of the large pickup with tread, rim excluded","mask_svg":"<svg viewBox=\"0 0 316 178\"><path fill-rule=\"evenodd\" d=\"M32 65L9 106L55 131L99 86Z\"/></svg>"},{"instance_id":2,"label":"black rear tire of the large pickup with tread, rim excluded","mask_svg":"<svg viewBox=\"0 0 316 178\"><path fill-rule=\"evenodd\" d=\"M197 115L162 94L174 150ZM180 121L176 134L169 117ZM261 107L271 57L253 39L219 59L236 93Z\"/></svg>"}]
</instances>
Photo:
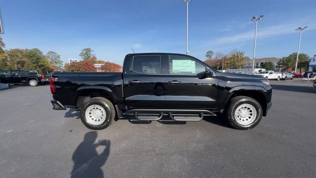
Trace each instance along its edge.
<instances>
[{"instance_id":1,"label":"black rear tire of the large pickup with tread, rim excluded","mask_svg":"<svg viewBox=\"0 0 316 178\"><path fill-rule=\"evenodd\" d=\"M101 106L106 113L106 117L105 117L104 121L98 125L92 124L90 121L88 121L88 118L86 118L86 110L91 105ZM109 127L115 118L115 114L116 114L116 112L115 112L115 108L114 108L112 102L106 98L103 98L103 97L91 98L89 101L84 103L84 105L80 108L80 115L81 115L80 119L81 119L82 123L85 125L85 127L92 129L92 130L102 130L102 129Z\"/></svg>"}]
</instances>

